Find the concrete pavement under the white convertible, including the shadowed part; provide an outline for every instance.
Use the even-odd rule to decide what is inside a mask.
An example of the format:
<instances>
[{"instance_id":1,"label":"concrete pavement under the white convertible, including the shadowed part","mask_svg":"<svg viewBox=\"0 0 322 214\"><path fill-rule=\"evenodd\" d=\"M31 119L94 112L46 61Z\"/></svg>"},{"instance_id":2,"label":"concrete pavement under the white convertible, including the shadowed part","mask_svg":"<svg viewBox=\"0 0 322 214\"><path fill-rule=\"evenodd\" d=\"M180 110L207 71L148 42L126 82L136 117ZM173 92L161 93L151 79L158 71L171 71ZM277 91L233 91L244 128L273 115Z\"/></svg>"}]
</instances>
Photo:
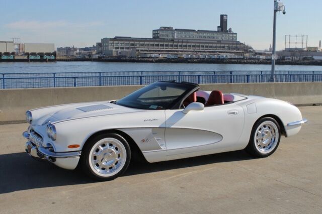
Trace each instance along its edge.
<instances>
[{"instance_id":1,"label":"concrete pavement under the white convertible, including the shadowed part","mask_svg":"<svg viewBox=\"0 0 322 214\"><path fill-rule=\"evenodd\" d=\"M27 124L0 125L0 213L322 213L322 106L277 151L132 164L113 181L39 162L24 152Z\"/></svg>"}]
</instances>

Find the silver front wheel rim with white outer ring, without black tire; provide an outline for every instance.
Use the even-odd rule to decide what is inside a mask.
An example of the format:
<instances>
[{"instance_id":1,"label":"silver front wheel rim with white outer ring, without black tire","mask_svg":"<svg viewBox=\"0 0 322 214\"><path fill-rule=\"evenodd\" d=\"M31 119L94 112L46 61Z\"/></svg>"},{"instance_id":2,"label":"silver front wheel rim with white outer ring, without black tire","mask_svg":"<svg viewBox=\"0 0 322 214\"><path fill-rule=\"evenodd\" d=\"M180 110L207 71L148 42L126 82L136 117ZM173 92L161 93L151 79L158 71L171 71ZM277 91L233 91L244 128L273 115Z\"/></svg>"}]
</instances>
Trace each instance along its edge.
<instances>
[{"instance_id":1,"label":"silver front wheel rim with white outer ring, without black tire","mask_svg":"<svg viewBox=\"0 0 322 214\"><path fill-rule=\"evenodd\" d=\"M102 177L110 177L122 170L126 162L126 149L115 138L104 138L92 147L89 163L93 172Z\"/></svg>"}]
</instances>

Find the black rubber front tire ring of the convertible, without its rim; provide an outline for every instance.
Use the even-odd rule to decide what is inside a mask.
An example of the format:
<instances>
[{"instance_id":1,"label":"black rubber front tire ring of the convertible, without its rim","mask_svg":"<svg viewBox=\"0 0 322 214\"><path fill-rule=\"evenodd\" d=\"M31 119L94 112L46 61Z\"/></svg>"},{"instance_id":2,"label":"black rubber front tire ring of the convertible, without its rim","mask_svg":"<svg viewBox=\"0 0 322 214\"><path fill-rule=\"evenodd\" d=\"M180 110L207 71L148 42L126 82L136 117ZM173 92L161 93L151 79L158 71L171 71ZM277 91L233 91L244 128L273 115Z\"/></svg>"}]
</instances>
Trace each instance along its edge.
<instances>
[{"instance_id":1,"label":"black rubber front tire ring of the convertible, without its rim","mask_svg":"<svg viewBox=\"0 0 322 214\"><path fill-rule=\"evenodd\" d=\"M126 152L126 159L125 159L125 164L123 165L123 168L117 172L114 175L111 176L100 176L97 173L95 173L93 170L93 168L91 167L91 162L90 162L90 152L92 150L92 148L94 147L94 145L99 142L102 139L105 138L114 138L117 139L118 141L120 141L124 148L125 148L125 152ZM121 174L123 174L127 167L129 166L131 160L131 150L130 150L130 146L127 143L127 141L119 134L114 134L114 133L106 133L106 134L100 134L97 135L93 138L91 138L83 147L82 150L82 156L81 156L81 167L83 168L83 171L89 175L90 177L97 179L97 180L113 180L115 178L117 178L118 176L120 176Z\"/></svg>"}]
</instances>

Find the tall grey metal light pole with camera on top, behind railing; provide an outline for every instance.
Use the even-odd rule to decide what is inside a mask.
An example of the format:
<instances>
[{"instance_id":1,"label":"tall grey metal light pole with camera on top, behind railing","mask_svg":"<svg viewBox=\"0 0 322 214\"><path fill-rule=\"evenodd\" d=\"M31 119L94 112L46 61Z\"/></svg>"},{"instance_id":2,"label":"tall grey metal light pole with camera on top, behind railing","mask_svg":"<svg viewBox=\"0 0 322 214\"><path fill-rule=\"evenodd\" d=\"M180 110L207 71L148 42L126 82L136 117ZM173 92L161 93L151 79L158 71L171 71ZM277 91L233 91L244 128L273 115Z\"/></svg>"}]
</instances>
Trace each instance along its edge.
<instances>
[{"instance_id":1,"label":"tall grey metal light pole with camera on top, behind railing","mask_svg":"<svg viewBox=\"0 0 322 214\"><path fill-rule=\"evenodd\" d=\"M272 49L272 71L271 71L271 82L274 82L274 73L275 73L275 60L277 59L276 55L276 13L278 11L283 11L283 14L286 14L285 6L282 2L274 0L274 22L273 22L273 49Z\"/></svg>"}]
</instances>

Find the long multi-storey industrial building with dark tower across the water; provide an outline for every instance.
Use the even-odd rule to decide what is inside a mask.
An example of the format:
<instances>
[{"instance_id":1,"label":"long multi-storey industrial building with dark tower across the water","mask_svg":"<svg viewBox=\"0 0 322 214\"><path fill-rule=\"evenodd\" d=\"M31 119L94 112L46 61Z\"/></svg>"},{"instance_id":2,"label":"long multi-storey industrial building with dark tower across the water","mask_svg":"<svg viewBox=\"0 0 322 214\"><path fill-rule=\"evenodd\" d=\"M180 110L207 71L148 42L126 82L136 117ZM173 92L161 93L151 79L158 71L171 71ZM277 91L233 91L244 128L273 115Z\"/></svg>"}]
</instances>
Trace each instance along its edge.
<instances>
[{"instance_id":1,"label":"long multi-storey industrial building with dark tower across the water","mask_svg":"<svg viewBox=\"0 0 322 214\"><path fill-rule=\"evenodd\" d=\"M152 30L152 38L103 38L96 44L97 53L134 57L147 53L215 54L248 51L248 46L237 41L237 34L231 29L227 30L227 15L221 15L220 19L220 31L160 27Z\"/></svg>"}]
</instances>

